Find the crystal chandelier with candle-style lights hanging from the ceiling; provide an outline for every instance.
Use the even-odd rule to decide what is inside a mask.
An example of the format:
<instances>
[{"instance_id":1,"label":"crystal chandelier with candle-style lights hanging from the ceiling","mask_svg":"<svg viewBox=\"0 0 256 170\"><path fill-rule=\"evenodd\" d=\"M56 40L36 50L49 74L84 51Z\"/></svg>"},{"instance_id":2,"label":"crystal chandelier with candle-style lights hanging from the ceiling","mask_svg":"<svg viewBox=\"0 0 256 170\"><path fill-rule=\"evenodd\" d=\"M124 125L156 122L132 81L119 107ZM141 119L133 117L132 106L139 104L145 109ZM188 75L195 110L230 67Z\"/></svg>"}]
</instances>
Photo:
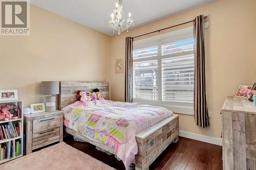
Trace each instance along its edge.
<instances>
[{"instance_id":1,"label":"crystal chandelier with candle-style lights hanging from the ceiling","mask_svg":"<svg viewBox=\"0 0 256 170\"><path fill-rule=\"evenodd\" d=\"M111 14L111 20L109 21L109 27L113 29L113 33L117 31L119 35L125 30L128 32L128 28L133 24L133 19L131 19L131 12L129 12L129 18L126 19L126 22L125 19L122 18L122 14L122 0L119 0L119 3L116 3L116 8L113 10L113 13Z\"/></svg>"}]
</instances>

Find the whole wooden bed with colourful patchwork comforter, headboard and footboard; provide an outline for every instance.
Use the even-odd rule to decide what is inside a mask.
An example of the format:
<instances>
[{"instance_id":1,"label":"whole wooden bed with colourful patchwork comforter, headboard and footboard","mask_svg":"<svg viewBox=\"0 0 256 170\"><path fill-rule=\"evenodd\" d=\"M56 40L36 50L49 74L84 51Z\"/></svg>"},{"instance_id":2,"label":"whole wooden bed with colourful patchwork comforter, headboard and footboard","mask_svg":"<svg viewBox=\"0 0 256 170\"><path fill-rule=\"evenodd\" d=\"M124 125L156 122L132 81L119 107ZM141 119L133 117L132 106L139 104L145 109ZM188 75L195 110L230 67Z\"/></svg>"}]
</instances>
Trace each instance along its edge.
<instances>
[{"instance_id":1,"label":"whole wooden bed with colourful patchwork comforter, headboard and footboard","mask_svg":"<svg viewBox=\"0 0 256 170\"><path fill-rule=\"evenodd\" d=\"M94 88L98 88L100 90L100 93L105 100L89 102L86 104L82 104L81 102L76 102L75 95L78 90L92 90ZM65 112L64 113L66 117L65 128L64 128L65 132L73 136L76 136L78 138L81 138L91 144L94 144L95 146L105 151L108 151L112 154L117 155L124 162L126 169L132 157L132 156L129 157L129 155L127 157L127 153L133 153L133 154L135 152L137 153L134 159L136 169L148 169L151 163L164 151L164 149L166 149L166 147L168 147L168 145L171 142L178 141L178 135L179 135L178 115L170 114L169 112L166 111L167 109L164 110L159 107L153 107L153 106L142 105L142 104L130 104L130 103L124 103L124 102L112 102L112 101L108 101L108 99L109 99L109 83L108 82L60 82L59 109L63 109L63 111ZM80 108L86 108L86 110L80 109ZM144 108L144 111L140 111L141 109L143 110L143 108ZM116 126L117 123L112 124L113 121L110 122L110 119L113 118L112 116L120 116L119 112L118 114L111 114L113 112L113 109L114 109L114 112L117 112L117 110L120 111L122 114L121 116L124 117L124 120L131 118L131 121L130 121L131 126L125 125L126 122L121 122L120 127ZM74 112L76 112L77 115L79 116L77 115L70 116L71 113L73 114ZM129 115L128 113L132 113L132 114ZM101 114L104 116L101 116ZM158 117L156 118L156 116L153 114L158 115ZM81 118L84 118L88 115L90 118L82 122ZM97 122L98 121L100 122L101 120L95 117L91 118L92 115L93 116L100 115L101 118L102 117L105 118L103 121L104 124L106 122L108 123L108 125L110 124L115 125L117 128L119 128L118 130L122 132L121 133L122 138L120 138L120 135L110 136L109 135L110 133L106 134L106 136L109 137L109 138L106 138L104 137L104 134L107 133L105 131L104 133L102 132L101 135L98 135L98 131L97 131L96 137L94 135L90 136L91 131L88 132L88 130L84 130L80 128L81 127L80 124L84 123L88 125L88 123L91 121L92 123L90 123L89 125L90 128L92 129L98 128L95 125L96 123L95 120L97 119ZM108 115L108 116L105 116L105 115ZM142 119L141 122L136 123L136 119L133 119L133 116L135 116L137 119L141 118ZM77 122L80 122L80 124L78 124L77 122L74 122L73 117L75 117L75 120L77 120L80 117L80 121L77 121ZM146 120L143 120L143 117L146 117ZM122 117L114 117L113 119L115 118L119 120ZM134 126L132 126L132 124ZM127 129L130 128L130 129L127 130L124 127L126 127ZM133 130L131 130L131 127ZM93 129L92 131L94 130L95 129ZM133 133L131 133L131 131ZM112 132L111 134L113 134ZM100 139L98 139L98 136L100 136ZM109 139L111 139L112 141L116 140L118 141L116 143L119 143L119 144L116 146L114 146L115 143L111 145L109 144L111 142L108 142ZM135 147L135 145L137 148ZM117 152L117 150L122 152ZM128 150L127 153L125 153L127 159L126 157L124 157L125 154L122 154L126 150Z\"/></svg>"}]
</instances>

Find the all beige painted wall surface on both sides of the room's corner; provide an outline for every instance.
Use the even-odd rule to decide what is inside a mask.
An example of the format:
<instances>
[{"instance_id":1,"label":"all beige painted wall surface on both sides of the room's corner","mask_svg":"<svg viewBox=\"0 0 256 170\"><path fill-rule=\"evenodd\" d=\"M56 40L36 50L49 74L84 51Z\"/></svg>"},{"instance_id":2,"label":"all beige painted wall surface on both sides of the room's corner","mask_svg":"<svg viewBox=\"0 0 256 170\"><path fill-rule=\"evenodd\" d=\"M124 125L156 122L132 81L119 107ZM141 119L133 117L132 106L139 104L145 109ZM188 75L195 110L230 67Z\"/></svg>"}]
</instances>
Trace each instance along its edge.
<instances>
[{"instance_id":1,"label":"all beige painted wall surface on both sides of the room's corner","mask_svg":"<svg viewBox=\"0 0 256 170\"><path fill-rule=\"evenodd\" d=\"M212 137L221 133L220 110L238 85L256 82L255 0L216 1L113 37L31 5L30 36L0 36L0 89L17 89L25 106L40 102L41 81L109 81L112 100L124 100L125 37L136 36L208 16L207 93L210 127L201 129L180 114L180 130ZM136 20L135 20L136 22Z\"/></svg>"}]
</instances>

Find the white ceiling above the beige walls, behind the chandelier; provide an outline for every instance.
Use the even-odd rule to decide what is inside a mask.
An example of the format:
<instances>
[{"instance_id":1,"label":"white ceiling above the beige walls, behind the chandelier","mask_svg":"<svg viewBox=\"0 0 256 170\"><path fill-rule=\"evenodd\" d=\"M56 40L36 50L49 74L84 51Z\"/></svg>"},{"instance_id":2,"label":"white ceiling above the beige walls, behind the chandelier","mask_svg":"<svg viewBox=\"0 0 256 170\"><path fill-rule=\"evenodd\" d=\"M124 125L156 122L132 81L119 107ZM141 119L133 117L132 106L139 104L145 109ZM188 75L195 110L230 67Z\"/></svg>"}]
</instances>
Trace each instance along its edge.
<instances>
[{"instance_id":1,"label":"white ceiling above the beige walls, behind the chandelier","mask_svg":"<svg viewBox=\"0 0 256 170\"><path fill-rule=\"evenodd\" d=\"M134 27L215 0L123 0L124 18L132 13ZM110 15L118 0L30 0L30 3L107 35Z\"/></svg>"}]
</instances>

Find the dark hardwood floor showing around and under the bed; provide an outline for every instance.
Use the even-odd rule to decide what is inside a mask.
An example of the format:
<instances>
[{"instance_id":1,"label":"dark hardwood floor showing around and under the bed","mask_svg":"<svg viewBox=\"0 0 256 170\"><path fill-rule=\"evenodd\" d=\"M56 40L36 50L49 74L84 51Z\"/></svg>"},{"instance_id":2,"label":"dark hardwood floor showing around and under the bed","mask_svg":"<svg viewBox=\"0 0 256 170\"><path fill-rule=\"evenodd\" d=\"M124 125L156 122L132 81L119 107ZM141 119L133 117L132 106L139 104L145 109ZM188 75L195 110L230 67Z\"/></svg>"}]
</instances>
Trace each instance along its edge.
<instances>
[{"instance_id":1,"label":"dark hardwood floor showing around and under the bed","mask_svg":"<svg viewBox=\"0 0 256 170\"><path fill-rule=\"evenodd\" d=\"M65 137L64 141L72 147L91 155L118 170L125 169L122 161L118 161L114 155L108 155L101 151L97 151L94 145L90 143L76 142L73 140L72 136ZM222 169L221 155L222 148L219 145L179 137L179 141L170 144L152 163L150 169L219 170Z\"/></svg>"}]
</instances>

